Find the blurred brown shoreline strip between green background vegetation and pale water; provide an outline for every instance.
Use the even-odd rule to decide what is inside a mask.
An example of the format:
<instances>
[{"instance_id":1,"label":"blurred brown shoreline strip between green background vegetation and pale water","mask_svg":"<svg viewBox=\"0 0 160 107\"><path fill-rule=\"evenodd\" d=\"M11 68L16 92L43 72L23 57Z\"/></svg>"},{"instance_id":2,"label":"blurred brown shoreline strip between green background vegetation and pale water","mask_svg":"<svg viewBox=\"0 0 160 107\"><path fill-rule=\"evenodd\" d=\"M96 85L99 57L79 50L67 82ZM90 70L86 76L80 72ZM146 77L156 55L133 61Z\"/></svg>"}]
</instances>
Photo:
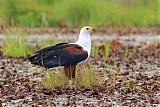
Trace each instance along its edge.
<instances>
[{"instance_id":1,"label":"blurred brown shoreline strip between green background vegetation and pale water","mask_svg":"<svg viewBox=\"0 0 160 107\"><path fill-rule=\"evenodd\" d=\"M93 26L94 27L94 26ZM128 34L152 34L159 35L160 27L95 27L97 35L128 35ZM12 33L14 31L24 32L27 35L42 35L42 34L78 34L81 28L76 27L41 27L41 28L29 28L29 27L1 27L0 33Z\"/></svg>"}]
</instances>

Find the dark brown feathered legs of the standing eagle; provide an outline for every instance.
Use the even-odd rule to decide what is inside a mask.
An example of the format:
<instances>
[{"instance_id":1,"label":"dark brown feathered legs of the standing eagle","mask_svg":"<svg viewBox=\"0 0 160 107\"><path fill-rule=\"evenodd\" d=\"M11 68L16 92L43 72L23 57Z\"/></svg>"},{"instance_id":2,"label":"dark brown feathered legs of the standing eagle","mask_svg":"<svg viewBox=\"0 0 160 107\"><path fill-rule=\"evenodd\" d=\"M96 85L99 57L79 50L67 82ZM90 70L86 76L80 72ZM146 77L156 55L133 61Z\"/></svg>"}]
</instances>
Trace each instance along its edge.
<instances>
[{"instance_id":1,"label":"dark brown feathered legs of the standing eagle","mask_svg":"<svg viewBox=\"0 0 160 107\"><path fill-rule=\"evenodd\" d=\"M75 78L76 65L64 66L65 75L69 78Z\"/></svg>"}]
</instances>

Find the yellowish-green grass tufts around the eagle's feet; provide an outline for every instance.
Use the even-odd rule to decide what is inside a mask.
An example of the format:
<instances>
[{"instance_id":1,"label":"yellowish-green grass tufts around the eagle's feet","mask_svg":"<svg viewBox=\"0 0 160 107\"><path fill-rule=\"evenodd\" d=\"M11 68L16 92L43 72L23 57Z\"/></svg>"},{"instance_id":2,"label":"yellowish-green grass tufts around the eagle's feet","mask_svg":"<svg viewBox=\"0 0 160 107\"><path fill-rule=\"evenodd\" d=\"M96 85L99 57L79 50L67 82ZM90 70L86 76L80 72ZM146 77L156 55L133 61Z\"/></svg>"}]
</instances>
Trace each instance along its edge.
<instances>
[{"instance_id":1,"label":"yellowish-green grass tufts around the eagle's feet","mask_svg":"<svg viewBox=\"0 0 160 107\"><path fill-rule=\"evenodd\" d=\"M45 72L45 76L40 81L42 88L65 88L70 85L69 79L64 75L63 70L56 71L57 73L51 70ZM91 65L88 65L88 67L81 66L76 73L76 78L71 81L74 88L92 88L101 86L103 83L102 77L94 71ZM76 84L74 84L74 82L76 82Z\"/></svg>"}]
</instances>

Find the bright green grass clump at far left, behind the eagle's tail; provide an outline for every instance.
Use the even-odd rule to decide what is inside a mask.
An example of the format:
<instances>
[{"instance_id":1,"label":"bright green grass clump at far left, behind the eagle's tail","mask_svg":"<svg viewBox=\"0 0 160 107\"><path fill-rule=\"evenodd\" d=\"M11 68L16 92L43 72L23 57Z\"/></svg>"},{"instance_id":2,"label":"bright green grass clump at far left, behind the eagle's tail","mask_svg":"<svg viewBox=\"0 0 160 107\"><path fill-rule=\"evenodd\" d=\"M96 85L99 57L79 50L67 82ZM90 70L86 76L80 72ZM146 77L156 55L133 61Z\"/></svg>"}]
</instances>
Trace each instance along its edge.
<instances>
[{"instance_id":1,"label":"bright green grass clump at far left, behind the eagle's tail","mask_svg":"<svg viewBox=\"0 0 160 107\"><path fill-rule=\"evenodd\" d=\"M6 35L2 46L3 55L11 57L26 57L31 55L34 49L25 37L26 36L18 30L12 32L12 35Z\"/></svg>"}]
</instances>

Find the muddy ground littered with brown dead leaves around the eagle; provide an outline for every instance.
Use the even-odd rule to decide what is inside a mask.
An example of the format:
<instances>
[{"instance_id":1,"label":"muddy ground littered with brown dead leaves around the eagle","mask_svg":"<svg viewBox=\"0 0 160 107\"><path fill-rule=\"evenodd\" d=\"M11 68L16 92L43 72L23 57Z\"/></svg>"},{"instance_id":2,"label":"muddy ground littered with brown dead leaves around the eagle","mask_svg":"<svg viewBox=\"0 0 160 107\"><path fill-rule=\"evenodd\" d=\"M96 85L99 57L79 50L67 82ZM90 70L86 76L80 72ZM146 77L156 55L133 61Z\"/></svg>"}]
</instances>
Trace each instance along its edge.
<instances>
[{"instance_id":1,"label":"muddy ground littered with brown dead leaves around the eagle","mask_svg":"<svg viewBox=\"0 0 160 107\"><path fill-rule=\"evenodd\" d=\"M111 40L110 40L111 41ZM156 107L160 104L160 41L155 46L147 41L118 40L105 57L103 44L98 56L91 57L95 72L104 79L100 87L70 89L42 89L38 79L41 68L29 64L25 58L0 55L0 105L21 106L85 106L85 107ZM136 44L136 45L135 45ZM125 56L125 47L129 55ZM111 75L115 71L115 78Z\"/></svg>"}]
</instances>

